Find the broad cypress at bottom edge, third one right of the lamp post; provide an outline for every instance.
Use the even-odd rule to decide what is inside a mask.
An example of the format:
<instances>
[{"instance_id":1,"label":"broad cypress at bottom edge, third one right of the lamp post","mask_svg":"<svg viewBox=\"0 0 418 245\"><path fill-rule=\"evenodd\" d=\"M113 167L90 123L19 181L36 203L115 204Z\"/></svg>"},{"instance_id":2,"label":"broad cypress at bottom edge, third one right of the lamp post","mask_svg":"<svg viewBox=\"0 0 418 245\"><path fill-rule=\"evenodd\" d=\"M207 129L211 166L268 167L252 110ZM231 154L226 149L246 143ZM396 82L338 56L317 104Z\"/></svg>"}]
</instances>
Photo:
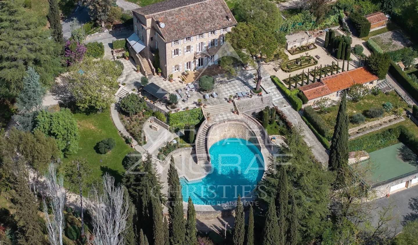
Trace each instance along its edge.
<instances>
[{"instance_id":1,"label":"broad cypress at bottom edge, third one right of the lamp post","mask_svg":"<svg viewBox=\"0 0 418 245\"><path fill-rule=\"evenodd\" d=\"M279 225L276 215L276 207L274 205L274 200L271 199L268 204L266 220L263 229L263 245L272 245L277 244L277 241L280 240L279 237Z\"/></svg>"}]
</instances>

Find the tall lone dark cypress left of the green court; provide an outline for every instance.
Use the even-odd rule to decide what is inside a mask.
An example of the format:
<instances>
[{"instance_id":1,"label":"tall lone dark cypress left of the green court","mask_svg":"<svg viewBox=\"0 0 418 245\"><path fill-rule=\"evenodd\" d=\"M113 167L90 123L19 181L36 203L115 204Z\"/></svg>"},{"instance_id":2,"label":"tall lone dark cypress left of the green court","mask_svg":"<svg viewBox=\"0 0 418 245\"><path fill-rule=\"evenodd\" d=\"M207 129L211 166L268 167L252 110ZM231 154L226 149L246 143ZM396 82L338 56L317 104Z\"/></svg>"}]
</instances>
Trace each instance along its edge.
<instances>
[{"instance_id":1,"label":"tall lone dark cypress left of the green court","mask_svg":"<svg viewBox=\"0 0 418 245\"><path fill-rule=\"evenodd\" d=\"M334 135L331 139L328 162L328 168L331 171L344 168L348 162L348 115L346 97L346 93L344 92L337 114Z\"/></svg>"}]
</instances>

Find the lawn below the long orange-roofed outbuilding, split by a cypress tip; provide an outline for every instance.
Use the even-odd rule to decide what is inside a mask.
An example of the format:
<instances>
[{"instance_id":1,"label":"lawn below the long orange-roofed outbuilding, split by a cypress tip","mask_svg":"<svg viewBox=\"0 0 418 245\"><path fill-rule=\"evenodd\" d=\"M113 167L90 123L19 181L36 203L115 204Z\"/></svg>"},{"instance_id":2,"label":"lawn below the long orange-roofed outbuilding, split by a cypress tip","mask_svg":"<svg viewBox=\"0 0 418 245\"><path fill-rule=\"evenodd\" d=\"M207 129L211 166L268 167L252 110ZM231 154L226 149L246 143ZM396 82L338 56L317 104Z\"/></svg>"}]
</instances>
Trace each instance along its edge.
<instances>
[{"instance_id":1,"label":"lawn below the long orange-roofed outbuilding, split by a cypress tip","mask_svg":"<svg viewBox=\"0 0 418 245\"><path fill-rule=\"evenodd\" d=\"M395 105L398 105L399 107L402 107L402 108L408 108L408 104L405 101L403 101L403 99L395 91L392 91L388 95L386 95L385 93L380 93L377 96L367 95L366 97L364 97L361 101L357 103L354 103L352 101L347 101L347 113L349 116L352 116L354 113L364 113L371 107L382 107L382 105L386 102L392 103L394 108L396 107ZM334 129L334 126L336 124L338 107L339 105L331 106L329 113L319 114L321 115L321 117L325 120L326 124L332 130ZM390 116L391 114L393 113L385 111L385 114L383 114L383 116ZM379 118L367 118L366 117L366 121L364 123L368 123L368 122L375 121L378 119ZM357 126L360 126L360 125L352 124L352 123L349 124L350 129L357 127Z\"/></svg>"}]
</instances>

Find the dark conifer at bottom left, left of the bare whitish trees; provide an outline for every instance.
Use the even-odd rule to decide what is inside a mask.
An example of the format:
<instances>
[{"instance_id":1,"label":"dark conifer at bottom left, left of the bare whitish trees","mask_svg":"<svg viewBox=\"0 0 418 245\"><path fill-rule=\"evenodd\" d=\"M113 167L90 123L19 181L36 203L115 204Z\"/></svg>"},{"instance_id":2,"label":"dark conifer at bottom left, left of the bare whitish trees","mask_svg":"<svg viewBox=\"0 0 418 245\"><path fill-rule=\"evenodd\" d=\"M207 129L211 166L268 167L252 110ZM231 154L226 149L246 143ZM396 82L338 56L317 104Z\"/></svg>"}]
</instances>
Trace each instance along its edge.
<instances>
[{"instance_id":1,"label":"dark conifer at bottom left, left of the bare whitish trees","mask_svg":"<svg viewBox=\"0 0 418 245\"><path fill-rule=\"evenodd\" d=\"M15 183L15 220L18 228L17 238L19 244L43 245L46 244L41 230L38 215L38 203L23 177L18 177Z\"/></svg>"}]
</instances>

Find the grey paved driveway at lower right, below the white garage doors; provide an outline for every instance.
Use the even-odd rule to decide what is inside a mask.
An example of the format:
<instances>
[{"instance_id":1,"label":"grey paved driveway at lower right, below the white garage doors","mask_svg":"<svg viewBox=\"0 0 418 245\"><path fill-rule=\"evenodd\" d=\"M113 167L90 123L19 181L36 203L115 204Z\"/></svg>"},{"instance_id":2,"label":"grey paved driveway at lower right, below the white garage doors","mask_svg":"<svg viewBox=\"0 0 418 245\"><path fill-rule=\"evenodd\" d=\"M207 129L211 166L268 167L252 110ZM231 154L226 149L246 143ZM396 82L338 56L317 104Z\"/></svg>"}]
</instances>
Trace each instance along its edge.
<instances>
[{"instance_id":1,"label":"grey paved driveway at lower right, below the white garage doors","mask_svg":"<svg viewBox=\"0 0 418 245\"><path fill-rule=\"evenodd\" d=\"M391 225L396 227L396 229L391 229L394 233L402 231L406 221L418 219L418 186L413 186L406 190L393 193L389 198L382 197L374 202L380 208L385 207L388 204L395 205L393 213L398 213L398 220L390 222ZM377 216L378 211L381 210L380 208L373 211L373 214L375 214L375 219L372 221L373 225L377 224Z\"/></svg>"}]
</instances>

